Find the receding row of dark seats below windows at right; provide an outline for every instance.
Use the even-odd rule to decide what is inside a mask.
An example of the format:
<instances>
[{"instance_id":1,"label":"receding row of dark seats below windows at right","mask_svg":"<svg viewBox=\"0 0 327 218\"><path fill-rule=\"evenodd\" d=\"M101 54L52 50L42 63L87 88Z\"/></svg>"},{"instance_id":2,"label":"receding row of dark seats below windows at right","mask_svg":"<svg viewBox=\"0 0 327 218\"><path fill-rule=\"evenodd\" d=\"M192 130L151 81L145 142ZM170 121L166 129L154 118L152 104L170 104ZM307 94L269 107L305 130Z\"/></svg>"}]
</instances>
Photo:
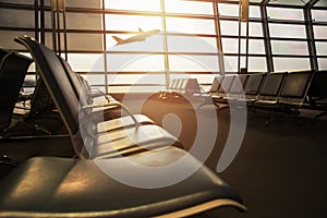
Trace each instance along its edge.
<instances>
[{"instance_id":1,"label":"receding row of dark seats below windows at right","mask_svg":"<svg viewBox=\"0 0 327 218\"><path fill-rule=\"evenodd\" d=\"M318 97L314 96L320 96L320 100L326 98L326 88L323 85L317 87L322 77L326 77L326 72L221 75L215 77L208 96L218 107L219 104L239 101L250 108L299 113L302 107L313 109L314 105L318 105Z\"/></svg>"}]
</instances>

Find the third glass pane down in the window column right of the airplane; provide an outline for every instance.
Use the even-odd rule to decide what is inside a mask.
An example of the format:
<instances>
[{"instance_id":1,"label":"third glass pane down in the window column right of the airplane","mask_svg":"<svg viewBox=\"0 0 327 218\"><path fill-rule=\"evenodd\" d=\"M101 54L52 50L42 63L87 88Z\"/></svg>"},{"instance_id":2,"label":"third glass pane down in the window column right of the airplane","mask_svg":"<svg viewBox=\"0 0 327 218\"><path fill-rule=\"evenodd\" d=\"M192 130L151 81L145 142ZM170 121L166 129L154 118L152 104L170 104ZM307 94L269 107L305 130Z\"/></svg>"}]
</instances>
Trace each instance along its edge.
<instances>
[{"instance_id":1,"label":"third glass pane down in the window column right of the airplane","mask_svg":"<svg viewBox=\"0 0 327 218\"><path fill-rule=\"evenodd\" d=\"M196 36L168 36L170 52L217 53L216 38Z\"/></svg>"}]
</instances>

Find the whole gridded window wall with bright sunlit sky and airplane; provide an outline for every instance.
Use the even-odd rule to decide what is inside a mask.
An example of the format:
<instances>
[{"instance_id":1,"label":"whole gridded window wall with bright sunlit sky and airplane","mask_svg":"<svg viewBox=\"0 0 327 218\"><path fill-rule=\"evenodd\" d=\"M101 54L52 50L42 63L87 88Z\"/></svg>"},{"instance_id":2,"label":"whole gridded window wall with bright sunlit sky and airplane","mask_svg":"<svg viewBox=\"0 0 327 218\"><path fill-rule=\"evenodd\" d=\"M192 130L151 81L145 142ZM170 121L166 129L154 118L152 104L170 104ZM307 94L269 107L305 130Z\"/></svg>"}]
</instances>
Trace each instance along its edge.
<instances>
[{"instance_id":1,"label":"whole gridded window wall with bright sunlit sky and airplane","mask_svg":"<svg viewBox=\"0 0 327 218\"><path fill-rule=\"evenodd\" d=\"M0 46L22 50L13 38L29 35L52 48L50 2L0 0ZM209 85L213 74L240 68L305 70L313 58L326 70L325 8L317 3L311 10L314 49L305 4L282 2L250 1L249 23L240 25L238 0L66 0L68 60L90 85L109 93L161 90L175 77ZM113 38L154 29L135 43L117 45Z\"/></svg>"}]
</instances>

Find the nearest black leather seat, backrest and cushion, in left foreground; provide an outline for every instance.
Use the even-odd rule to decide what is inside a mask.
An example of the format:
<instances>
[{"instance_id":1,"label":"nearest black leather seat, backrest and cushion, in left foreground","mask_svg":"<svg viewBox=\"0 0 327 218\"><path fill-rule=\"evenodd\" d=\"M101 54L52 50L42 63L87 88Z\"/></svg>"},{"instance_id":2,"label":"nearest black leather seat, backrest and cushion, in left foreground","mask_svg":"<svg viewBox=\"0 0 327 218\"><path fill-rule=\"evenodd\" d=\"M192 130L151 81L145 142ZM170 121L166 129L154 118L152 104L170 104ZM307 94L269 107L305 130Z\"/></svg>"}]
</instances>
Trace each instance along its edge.
<instances>
[{"instance_id":1,"label":"nearest black leather seat, backrest and cushion, in left foreground","mask_svg":"<svg viewBox=\"0 0 327 218\"><path fill-rule=\"evenodd\" d=\"M82 132L78 129L89 126L84 122L73 125L75 121L70 118L75 114L69 117L66 113L73 113L70 104L74 101L74 95L61 96L55 92L59 87L47 82L49 77L46 76L50 73L46 75L44 71L52 72L61 66L56 61L46 64L40 57L48 59L55 53L28 37L17 40L32 50L70 129L72 141L76 140ZM68 81L62 83L69 85ZM66 107L59 100L63 100ZM75 110L78 112L78 108ZM138 173L133 170L135 165L142 166L145 171ZM158 168L164 170L152 170ZM190 168L196 169L193 174L182 177L180 182L165 184L169 179L183 175ZM120 182L111 172L128 177L128 183L141 180L145 186ZM158 186L155 181L164 181L165 185ZM240 195L222 179L185 150L173 146L95 160L36 157L17 166L0 182L0 187L3 191L0 216L4 217L182 217L223 206L245 209Z\"/></svg>"}]
</instances>

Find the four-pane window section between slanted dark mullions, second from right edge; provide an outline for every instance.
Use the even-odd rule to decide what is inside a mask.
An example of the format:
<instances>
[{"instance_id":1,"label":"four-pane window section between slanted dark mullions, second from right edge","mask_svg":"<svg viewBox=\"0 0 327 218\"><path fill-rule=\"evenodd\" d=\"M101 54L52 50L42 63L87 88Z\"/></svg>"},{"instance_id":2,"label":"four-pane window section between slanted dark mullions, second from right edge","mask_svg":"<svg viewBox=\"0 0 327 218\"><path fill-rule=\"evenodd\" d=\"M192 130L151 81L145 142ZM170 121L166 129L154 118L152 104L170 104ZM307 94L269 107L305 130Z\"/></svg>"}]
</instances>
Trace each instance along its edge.
<instances>
[{"instance_id":1,"label":"four-pane window section between slanted dark mullions, second from right edge","mask_svg":"<svg viewBox=\"0 0 327 218\"><path fill-rule=\"evenodd\" d=\"M303 10L268 7L267 15L274 70L311 69Z\"/></svg>"}]
</instances>

